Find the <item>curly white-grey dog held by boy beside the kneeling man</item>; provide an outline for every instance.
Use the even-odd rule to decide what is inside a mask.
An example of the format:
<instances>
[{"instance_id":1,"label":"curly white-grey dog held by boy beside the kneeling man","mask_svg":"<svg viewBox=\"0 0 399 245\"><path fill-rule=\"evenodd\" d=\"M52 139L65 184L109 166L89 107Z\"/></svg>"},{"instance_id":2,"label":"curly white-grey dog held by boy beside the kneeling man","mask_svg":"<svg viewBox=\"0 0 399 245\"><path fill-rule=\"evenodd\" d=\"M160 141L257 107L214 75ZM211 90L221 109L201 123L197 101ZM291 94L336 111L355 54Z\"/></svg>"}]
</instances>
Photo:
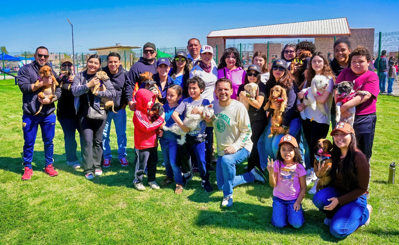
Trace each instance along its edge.
<instances>
[{"instance_id":1,"label":"curly white-grey dog held by boy beside the kneeling man","mask_svg":"<svg viewBox=\"0 0 399 245\"><path fill-rule=\"evenodd\" d=\"M213 104L201 106L199 108L202 110L203 116L205 116L207 119L214 117L215 112L213 111ZM200 114L191 114L192 109L194 108L187 108L186 117L183 120L183 124L186 125L186 127L189 127L191 130L194 130L203 119ZM186 143L187 133L184 132L177 123L173 123L170 127L164 126L162 127L162 129L166 131L169 130L173 133L176 133L177 135L180 135L180 139L177 139L177 143L179 145L183 145L184 143Z\"/></svg>"}]
</instances>

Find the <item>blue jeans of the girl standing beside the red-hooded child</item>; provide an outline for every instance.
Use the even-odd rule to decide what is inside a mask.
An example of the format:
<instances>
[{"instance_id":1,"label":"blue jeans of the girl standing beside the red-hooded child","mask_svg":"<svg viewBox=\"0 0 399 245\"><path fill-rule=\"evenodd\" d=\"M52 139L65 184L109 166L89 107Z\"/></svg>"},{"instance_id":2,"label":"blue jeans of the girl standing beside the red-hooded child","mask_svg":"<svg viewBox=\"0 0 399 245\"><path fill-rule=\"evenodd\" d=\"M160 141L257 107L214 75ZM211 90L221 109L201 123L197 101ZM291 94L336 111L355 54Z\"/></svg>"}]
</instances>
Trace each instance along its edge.
<instances>
[{"instance_id":1,"label":"blue jeans of the girl standing beside the red-hooded child","mask_svg":"<svg viewBox=\"0 0 399 245\"><path fill-rule=\"evenodd\" d=\"M164 156L166 175L172 179L174 177L176 183L183 184L182 170L176 162L179 148L176 139L161 137L159 144L161 145L162 155Z\"/></svg>"}]
</instances>

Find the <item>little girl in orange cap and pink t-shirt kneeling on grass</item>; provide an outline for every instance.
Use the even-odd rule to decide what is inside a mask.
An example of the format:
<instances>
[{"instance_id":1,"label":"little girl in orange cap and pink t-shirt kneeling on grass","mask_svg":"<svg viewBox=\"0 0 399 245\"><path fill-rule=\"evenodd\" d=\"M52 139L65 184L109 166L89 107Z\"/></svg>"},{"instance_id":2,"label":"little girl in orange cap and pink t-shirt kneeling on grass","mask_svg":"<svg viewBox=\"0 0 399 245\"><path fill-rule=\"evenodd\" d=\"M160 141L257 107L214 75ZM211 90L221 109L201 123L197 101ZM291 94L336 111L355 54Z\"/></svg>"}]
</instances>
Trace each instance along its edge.
<instances>
[{"instance_id":1,"label":"little girl in orange cap and pink t-shirt kneeling on grass","mask_svg":"<svg viewBox=\"0 0 399 245\"><path fill-rule=\"evenodd\" d=\"M301 161L298 143L291 135L280 139L277 160L268 159L269 183L274 188L272 225L276 228L288 223L299 228L304 222L301 202L306 193L306 170Z\"/></svg>"}]
</instances>

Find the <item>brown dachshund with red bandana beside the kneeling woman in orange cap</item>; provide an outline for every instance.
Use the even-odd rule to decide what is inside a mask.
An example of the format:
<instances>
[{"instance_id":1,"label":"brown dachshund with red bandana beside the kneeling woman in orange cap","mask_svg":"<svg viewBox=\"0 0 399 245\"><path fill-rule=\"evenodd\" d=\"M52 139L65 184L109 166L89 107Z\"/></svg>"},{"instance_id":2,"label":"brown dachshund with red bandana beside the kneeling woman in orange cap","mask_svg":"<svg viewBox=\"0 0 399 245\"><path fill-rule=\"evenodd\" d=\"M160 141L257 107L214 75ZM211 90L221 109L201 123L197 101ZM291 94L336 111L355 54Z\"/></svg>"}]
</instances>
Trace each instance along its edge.
<instances>
[{"instance_id":1,"label":"brown dachshund with red bandana beside the kneeling woman in orange cap","mask_svg":"<svg viewBox=\"0 0 399 245\"><path fill-rule=\"evenodd\" d=\"M316 176L320 178L320 180L317 182L316 186L316 192L319 190L326 188L331 180L331 165L332 165L332 159L331 159L331 151L332 151L332 143L328 139L319 139L317 141L316 148L318 148L317 155L314 155L314 169L317 171L319 167L319 160L321 161L321 164L324 163L324 167L321 169L321 172L325 172L323 176ZM329 168L329 169L328 169ZM326 171L327 169L327 171Z\"/></svg>"}]
</instances>

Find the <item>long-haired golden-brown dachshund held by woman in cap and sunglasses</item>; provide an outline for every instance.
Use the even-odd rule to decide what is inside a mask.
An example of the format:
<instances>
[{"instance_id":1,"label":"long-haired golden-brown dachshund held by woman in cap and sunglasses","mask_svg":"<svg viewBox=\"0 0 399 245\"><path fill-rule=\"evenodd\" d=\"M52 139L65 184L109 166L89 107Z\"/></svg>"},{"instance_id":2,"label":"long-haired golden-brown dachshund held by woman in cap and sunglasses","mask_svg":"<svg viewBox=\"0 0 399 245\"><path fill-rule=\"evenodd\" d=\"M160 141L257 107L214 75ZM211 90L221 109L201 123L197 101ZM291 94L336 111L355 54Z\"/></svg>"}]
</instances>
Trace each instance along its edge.
<instances>
[{"instance_id":1,"label":"long-haired golden-brown dachshund held by woman in cap and sunglasses","mask_svg":"<svg viewBox=\"0 0 399 245\"><path fill-rule=\"evenodd\" d=\"M272 102L281 101L280 108L274 109L273 117L270 119L271 121L271 128L270 128L270 135L269 138L273 137L278 131L274 129L274 127L280 127L282 123L282 113L285 111L287 107L287 93L284 88L279 85L274 86L270 90L269 101L266 103L264 109L268 110L271 106ZM285 132L286 133L286 132Z\"/></svg>"}]
</instances>

